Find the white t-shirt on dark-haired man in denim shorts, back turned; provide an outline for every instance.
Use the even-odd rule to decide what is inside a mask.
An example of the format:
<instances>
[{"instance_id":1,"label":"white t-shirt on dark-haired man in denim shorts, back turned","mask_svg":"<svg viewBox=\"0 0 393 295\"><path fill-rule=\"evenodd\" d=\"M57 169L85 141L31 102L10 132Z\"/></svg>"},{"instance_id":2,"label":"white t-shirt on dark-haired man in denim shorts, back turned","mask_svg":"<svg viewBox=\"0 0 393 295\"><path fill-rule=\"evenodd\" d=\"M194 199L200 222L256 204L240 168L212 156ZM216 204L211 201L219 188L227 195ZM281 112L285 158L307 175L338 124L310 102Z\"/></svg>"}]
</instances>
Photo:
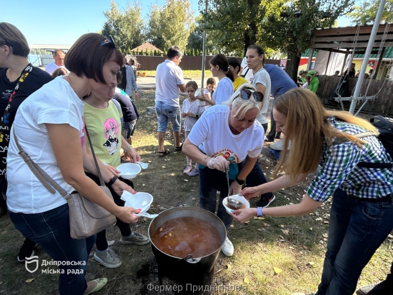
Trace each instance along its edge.
<instances>
[{"instance_id":1,"label":"white t-shirt on dark-haired man in denim shorts, back turned","mask_svg":"<svg viewBox=\"0 0 393 295\"><path fill-rule=\"evenodd\" d=\"M156 71L156 99L169 106L179 107L178 85L185 84L180 67L169 59L157 66Z\"/></svg>"}]
</instances>

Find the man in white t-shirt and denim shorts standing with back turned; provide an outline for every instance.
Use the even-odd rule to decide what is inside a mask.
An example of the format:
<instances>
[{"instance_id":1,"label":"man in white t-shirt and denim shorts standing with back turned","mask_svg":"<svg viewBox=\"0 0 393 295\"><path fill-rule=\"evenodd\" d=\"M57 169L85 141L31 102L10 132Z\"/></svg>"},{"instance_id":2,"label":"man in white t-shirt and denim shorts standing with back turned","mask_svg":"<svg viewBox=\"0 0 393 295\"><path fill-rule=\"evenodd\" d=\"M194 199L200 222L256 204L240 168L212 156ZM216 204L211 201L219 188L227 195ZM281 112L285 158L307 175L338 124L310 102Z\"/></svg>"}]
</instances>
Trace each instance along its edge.
<instances>
[{"instance_id":1,"label":"man in white t-shirt and denim shorts standing with back turned","mask_svg":"<svg viewBox=\"0 0 393 295\"><path fill-rule=\"evenodd\" d=\"M159 157L163 157L169 153L169 150L164 148L168 120L172 123L175 150L181 150L179 94L180 91L186 91L183 72L179 67L182 57L183 53L177 46L169 47L167 59L157 66L155 108L158 121L157 138Z\"/></svg>"}]
</instances>

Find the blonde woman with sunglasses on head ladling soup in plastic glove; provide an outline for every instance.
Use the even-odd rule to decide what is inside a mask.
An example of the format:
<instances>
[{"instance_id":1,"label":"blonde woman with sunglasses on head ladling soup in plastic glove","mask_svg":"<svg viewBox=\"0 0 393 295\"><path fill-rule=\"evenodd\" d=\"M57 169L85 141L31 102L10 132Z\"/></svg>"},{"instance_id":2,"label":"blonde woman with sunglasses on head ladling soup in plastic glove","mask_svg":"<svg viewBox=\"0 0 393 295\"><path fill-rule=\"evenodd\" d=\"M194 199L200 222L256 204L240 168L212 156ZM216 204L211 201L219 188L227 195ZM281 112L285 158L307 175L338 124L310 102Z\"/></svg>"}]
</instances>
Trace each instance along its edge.
<instances>
[{"instance_id":1,"label":"blonde woman with sunglasses on head ladling soup in plastic glove","mask_svg":"<svg viewBox=\"0 0 393 295\"><path fill-rule=\"evenodd\" d=\"M199 206L217 216L228 229L232 222L223 205L225 197L238 194L253 169L263 146L263 128L256 120L263 94L250 84L242 85L221 105L208 108L195 123L183 144L183 153L199 163ZM242 166L238 164L242 163ZM239 168L240 167L240 168ZM228 171L228 185L226 173ZM233 245L225 238L223 252L233 255Z\"/></svg>"}]
</instances>

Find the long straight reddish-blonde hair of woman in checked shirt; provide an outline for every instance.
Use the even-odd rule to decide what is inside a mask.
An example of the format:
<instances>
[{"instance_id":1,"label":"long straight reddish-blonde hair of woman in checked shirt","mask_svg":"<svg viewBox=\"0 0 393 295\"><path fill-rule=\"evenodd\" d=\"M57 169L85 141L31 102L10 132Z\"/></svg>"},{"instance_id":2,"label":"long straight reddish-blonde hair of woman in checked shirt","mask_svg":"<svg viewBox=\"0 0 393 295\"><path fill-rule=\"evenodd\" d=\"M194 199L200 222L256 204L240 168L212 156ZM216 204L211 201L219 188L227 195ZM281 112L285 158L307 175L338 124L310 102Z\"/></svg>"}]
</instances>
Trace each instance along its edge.
<instances>
[{"instance_id":1,"label":"long straight reddish-blonde hair of woman in checked shirt","mask_svg":"<svg viewBox=\"0 0 393 295\"><path fill-rule=\"evenodd\" d=\"M284 147L273 177L285 172L293 181L300 174L313 173L320 162L324 138L329 147L336 139L350 141L357 146L364 144L355 136L333 127L328 121L329 117L335 116L338 120L378 133L369 122L348 112L325 110L318 96L304 88L291 89L280 95L273 108L286 117ZM289 141L291 147L286 158Z\"/></svg>"}]
</instances>

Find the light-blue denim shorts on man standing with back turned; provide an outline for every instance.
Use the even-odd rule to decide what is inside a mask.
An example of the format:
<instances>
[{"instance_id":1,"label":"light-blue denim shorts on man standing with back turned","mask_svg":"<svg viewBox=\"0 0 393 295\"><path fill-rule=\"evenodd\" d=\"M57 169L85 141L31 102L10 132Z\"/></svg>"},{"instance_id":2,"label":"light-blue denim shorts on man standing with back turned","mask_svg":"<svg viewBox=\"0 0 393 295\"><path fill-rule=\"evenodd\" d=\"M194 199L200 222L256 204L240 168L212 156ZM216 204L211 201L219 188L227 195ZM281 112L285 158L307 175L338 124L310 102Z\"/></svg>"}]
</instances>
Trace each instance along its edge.
<instances>
[{"instance_id":1,"label":"light-blue denim shorts on man standing with back turned","mask_svg":"<svg viewBox=\"0 0 393 295\"><path fill-rule=\"evenodd\" d=\"M156 102L156 113L158 122L158 132L166 132L168 127L168 119L172 123L174 132L180 131L180 107L169 106L162 101Z\"/></svg>"}]
</instances>

